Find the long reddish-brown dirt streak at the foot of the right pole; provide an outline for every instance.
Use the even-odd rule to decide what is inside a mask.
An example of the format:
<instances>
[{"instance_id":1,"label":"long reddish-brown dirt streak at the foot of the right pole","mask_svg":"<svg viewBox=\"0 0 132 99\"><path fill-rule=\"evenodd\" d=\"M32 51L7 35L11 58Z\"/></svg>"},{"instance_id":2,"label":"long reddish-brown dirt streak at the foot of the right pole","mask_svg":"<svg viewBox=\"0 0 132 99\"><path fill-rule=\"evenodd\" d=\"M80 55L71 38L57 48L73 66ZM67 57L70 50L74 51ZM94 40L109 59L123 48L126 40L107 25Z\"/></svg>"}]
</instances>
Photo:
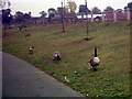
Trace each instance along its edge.
<instances>
[{"instance_id":1,"label":"long reddish-brown dirt streak at the foot of the right pole","mask_svg":"<svg viewBox=\"0 0 132 99\"><path fill-rule=\"evenodd\" d=\"M87 43L88 41L94 40L95 37L89 37L89 38L81 38L81 40L77 40L77 41L73 41L70 43L65 44L64 46L68 46L68 45L78 45L81 43Z\"/></svg>"}]
</instances>

